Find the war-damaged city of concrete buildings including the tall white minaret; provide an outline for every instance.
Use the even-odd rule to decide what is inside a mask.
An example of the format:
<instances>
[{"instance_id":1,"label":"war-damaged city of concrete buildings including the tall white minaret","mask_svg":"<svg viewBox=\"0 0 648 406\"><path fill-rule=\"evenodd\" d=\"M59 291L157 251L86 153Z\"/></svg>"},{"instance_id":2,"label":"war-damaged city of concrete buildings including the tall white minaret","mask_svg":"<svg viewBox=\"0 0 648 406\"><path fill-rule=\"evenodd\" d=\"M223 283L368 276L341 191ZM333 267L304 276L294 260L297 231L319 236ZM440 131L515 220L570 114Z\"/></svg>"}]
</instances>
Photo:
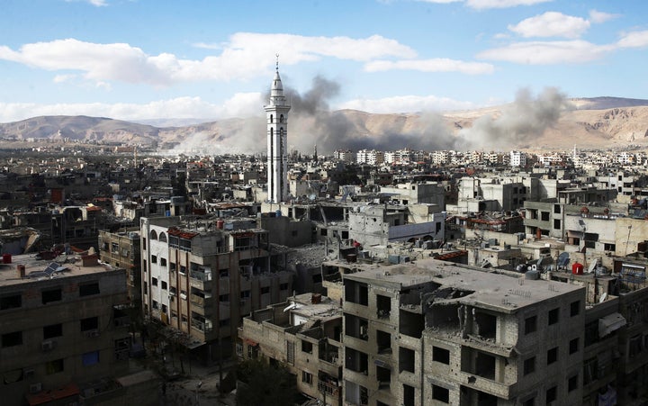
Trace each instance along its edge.
<instances>
[{"instance_id":1,"label":"war-damaged city of concrete buildings including the tall white minaret","mask_svg":"<svg viewBox=\"0 0 648 406\"><path fill-rule=\"evenodd\" d=\"M7 405L640 405L648 151L0 142ZM272 377L272 379L271 379Z\"/></svg>"}]
</instances>

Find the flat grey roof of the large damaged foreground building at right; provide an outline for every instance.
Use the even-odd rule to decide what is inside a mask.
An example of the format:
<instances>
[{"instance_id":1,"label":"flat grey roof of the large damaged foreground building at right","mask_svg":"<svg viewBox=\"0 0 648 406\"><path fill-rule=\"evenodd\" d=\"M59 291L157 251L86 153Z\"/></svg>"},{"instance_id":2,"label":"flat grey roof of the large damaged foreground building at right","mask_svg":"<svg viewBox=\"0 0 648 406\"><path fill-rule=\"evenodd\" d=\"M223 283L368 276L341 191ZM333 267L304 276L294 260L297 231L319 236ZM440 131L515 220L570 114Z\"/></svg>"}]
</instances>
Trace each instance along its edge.
<instances>
[{"instance_id":1,"label":"flat grey roof of the large damaged foreground building at right","mask_svg":"<svg viewBox=\"0 0 648 406\"><path fill-rule=\"evenodd\" d=\"M438 289L454 288L473 292L457 299L460 302L479 304L503 312L514 312L536 302L584 289L574 284L526 279L525 274L502 272L497 269L481 270L433 258L417 259L392 266L354 264L354 267L358 272L346 274L344 278L383 285L399 291L432 282L441 285Z\"/></svg>"}]
</instances>

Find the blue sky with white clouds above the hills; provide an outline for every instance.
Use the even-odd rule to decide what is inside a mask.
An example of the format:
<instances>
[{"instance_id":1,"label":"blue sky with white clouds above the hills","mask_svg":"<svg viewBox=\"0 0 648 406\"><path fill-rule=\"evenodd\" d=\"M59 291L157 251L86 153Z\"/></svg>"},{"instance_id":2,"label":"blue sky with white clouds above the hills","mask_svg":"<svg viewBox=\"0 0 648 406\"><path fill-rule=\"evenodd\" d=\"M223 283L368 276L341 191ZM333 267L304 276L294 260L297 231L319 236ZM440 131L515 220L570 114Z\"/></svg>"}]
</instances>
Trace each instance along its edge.
<instances>
[{"instance_id":1,"label":"blue sky with white clouds above the hills","mask_svg":"<svg viewBox=\"0 0 648 406\"><path fill-rule=\"evenodd\" d=\"M472 109L556 87L648 95L648 2L4 0L0 122L263 114L284 86L331 109Z\"/></svg>"}]
</instances>

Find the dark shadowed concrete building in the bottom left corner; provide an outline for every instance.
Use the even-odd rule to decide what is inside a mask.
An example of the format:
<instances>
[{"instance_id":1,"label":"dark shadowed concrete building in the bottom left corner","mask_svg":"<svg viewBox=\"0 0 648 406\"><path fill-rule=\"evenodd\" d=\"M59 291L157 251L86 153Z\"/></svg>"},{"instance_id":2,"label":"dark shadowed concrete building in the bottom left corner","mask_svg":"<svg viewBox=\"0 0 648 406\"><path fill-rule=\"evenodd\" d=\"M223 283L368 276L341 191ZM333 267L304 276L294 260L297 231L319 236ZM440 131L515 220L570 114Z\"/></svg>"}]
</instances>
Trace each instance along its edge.
<instances>
[{"instance_id":1,"label":"dark shadowed concrete building in the bottom left corner","mask_svg":"<svg viewBox=\"0 0 648 406\"><path fill-rule=\"evenodd\" d=\"M96 255L55 261L17 256L0 267L1 402L123 404L115 378L129 371L126 273Z\"/></svg>"}]
</instances>

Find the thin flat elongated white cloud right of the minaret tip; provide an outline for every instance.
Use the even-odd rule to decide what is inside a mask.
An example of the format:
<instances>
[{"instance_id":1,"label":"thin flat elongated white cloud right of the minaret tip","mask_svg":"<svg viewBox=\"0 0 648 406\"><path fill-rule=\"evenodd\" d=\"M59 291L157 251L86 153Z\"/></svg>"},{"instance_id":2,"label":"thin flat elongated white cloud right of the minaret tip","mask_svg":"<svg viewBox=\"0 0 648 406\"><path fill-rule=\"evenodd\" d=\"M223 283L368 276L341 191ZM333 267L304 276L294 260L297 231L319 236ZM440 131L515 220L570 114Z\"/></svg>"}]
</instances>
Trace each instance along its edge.
<instances>
[{"instance_id":1,"label":"thin flat elongated white cloud right of the minaret tip","mask_svg":"<svg viewBox=\"0 0 648 406\"><path fill-rule=\"evenodd\" d=\"M365 65L367 72L386 70L419 70L421 72L461 72L468 75L491 74L493 66L482 62L464 62L455 59L374 60Z\"/></svg>"}]
</instances>

